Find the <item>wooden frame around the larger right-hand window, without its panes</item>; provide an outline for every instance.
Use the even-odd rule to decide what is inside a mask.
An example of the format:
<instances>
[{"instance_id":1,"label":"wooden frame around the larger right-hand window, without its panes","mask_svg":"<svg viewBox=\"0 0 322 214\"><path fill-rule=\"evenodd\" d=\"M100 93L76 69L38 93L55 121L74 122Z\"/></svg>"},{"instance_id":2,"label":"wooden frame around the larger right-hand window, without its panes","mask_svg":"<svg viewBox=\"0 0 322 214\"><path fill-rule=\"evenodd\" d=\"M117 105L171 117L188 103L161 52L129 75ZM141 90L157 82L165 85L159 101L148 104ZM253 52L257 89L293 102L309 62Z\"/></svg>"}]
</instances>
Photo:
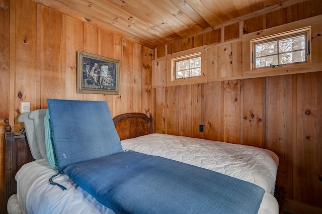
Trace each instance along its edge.
<instances>
[{"instance_id":1,"label":"wooden frame around the larger right-hand window, without its panes","mask_svg":"<svg viewBox=\"0 0 322 214\"><path fill-rule=\"evenodd\" d=\"M263 44L266 42L272 42L272 41L278 41L281 39L287 39L290 37L295 37L295 36L299 36L299 35L303 35L305 34L305 58L306 61L304 62L294 62L294 63L287 63L287 64L283 64L283 65L272 65L272 66L265 66L265 67L256 67L256 57L255 57L255 46L258 44ZM310 35L311 35L311 27L304 27L304 28L300 28L300 29L296 29L296 30L292 30L292 31L286 31L286 32L282 32L279 34L274 34L274 35L270 35L270 36L266 36L266 37L262 37L259 39L254 39L250 41L250 45L251 45L251 57L250 57L250 64L251 64L251 71L259 71L261 69L268 69L268 68L276 68L276 67L287 67L287 66L294 66L294 65L298 65L298 64L308 64L310 63L310 44L311 44L311 40L310 40ZM276 54L278 56L278 54Z\"/></svg>"}]
</instances>

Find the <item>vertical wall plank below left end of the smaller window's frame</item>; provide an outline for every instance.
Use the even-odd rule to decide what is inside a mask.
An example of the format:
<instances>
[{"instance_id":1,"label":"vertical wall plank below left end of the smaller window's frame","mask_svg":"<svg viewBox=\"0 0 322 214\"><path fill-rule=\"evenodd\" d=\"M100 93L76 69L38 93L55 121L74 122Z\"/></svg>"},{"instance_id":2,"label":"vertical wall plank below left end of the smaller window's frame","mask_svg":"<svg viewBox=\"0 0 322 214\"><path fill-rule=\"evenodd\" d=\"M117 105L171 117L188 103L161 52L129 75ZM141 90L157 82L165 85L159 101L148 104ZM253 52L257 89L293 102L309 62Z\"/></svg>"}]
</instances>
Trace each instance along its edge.
<instances>
[{"instance_id":1,"label":"vertical wall plank below left end of the smaller window's frame","mask_svg":"<svg viewBox=\"0 0 322 214\"><path fill-rule=\"evenodd\" d=\"M166 88L166 134L179 135L180 95L179 86Z\"/></svg>"}]
</instances>

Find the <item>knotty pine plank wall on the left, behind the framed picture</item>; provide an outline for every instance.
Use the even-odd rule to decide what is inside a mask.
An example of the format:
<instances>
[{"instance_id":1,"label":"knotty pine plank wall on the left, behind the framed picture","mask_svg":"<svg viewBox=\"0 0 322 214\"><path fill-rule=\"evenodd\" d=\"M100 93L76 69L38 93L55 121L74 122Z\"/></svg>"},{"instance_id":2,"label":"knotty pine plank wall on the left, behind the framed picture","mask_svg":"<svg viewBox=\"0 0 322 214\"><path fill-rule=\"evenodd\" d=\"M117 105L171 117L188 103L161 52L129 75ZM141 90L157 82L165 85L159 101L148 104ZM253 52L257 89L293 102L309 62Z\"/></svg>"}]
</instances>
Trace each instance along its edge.
<instances>
[{"instance_id":1,"label":"knotty pine plank wall on the left, behind the framed picture","mask_svg":"<svg viewBox=\"0 0 322 214\"><path fill-rule=\"evenodd\" d=\"M9 121L13 131L23 127L17 123L22 101L36 110L47 108L46 98L106 100L113 117L129 112L153 114L152 49L28 0L0 0L0 4L1 136ZM77 50L120 60L119 95L76 92ZM7 204L3 145L1 137L0 213Z\"/></svg>"}]
</instances>

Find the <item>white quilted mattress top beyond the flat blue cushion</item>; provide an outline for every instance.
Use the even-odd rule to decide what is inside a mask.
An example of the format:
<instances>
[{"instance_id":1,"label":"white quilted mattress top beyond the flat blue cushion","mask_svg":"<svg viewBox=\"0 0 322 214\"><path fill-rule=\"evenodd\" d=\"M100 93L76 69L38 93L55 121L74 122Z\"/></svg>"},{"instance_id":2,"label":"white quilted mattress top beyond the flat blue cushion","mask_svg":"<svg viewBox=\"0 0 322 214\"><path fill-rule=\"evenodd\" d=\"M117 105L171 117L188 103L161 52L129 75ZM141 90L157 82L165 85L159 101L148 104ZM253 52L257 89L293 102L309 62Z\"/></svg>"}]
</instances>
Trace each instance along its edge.
<instances>
[{"instance_id":1,"label":"white quilted mattress top beyond the flat blue cushion","mask_svg":"<svg viewBox=\"0 0 322 214\"><path fill-rule=\"evenodd\" d=\"M121 143L124 150L210 169L254 183L274 194L279 158L270 150L166 134L150 134Z\"/></svg>"}]
</instances>

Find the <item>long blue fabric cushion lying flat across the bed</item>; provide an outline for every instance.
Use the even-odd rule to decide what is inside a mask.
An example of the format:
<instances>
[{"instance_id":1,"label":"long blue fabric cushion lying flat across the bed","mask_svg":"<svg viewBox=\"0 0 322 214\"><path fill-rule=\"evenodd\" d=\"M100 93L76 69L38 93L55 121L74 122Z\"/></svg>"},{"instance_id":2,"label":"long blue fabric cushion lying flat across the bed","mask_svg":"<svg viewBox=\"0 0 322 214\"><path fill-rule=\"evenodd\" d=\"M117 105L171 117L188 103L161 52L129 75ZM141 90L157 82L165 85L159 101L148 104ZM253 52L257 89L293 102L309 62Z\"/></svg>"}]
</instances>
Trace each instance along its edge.
<instances>
[{"instance_id":1,"label":"long blue fabric cushion lying flat across the bed","mask_svg":"<svg viewBox=\"0 0 322 214\"><path fill-rule=\"evenodd\" d=\"M257 213L264 189L224 174L138 152L64 172L115 213Z\"/></svg>"}]
</instances>

